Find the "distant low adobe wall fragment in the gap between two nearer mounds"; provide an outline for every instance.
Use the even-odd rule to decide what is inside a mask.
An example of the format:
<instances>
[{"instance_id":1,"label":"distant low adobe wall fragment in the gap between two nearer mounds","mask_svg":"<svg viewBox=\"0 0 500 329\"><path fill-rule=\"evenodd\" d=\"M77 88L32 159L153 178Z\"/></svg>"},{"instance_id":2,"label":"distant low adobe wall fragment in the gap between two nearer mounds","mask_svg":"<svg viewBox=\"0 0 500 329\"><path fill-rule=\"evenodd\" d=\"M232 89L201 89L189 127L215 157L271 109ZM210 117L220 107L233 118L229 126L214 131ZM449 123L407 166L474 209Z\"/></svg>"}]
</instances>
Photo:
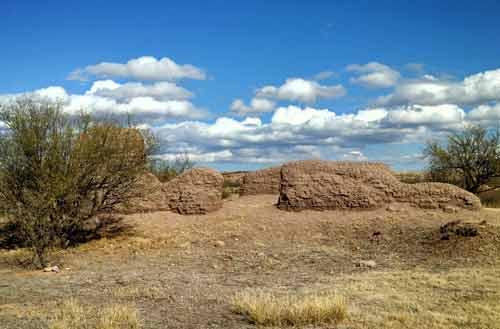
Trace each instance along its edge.
<instances>
[{"instance_id":1,"label":"distant low adobe wall fragment in the gap between two nearer mounds","mask_svg":"<svg viewBox=\"0 0 500 329\"><path fill-rule=\"evenodd\" d=\"M240 187L241 195L280 193L281 167L272 167L247 173Z\"/></svg>"}]
</instances>

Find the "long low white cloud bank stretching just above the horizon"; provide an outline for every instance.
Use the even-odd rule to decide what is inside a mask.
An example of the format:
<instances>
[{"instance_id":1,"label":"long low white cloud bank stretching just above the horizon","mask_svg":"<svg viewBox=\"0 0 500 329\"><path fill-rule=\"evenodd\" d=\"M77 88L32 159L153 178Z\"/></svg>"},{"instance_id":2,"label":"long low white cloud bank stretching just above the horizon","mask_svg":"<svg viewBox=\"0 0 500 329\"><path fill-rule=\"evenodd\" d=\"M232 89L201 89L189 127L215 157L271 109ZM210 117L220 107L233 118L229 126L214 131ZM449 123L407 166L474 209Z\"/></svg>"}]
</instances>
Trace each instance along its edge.
<instances>
[{"instance_id":1,"label":"long low white cloud bank stretching just above the horizon","mask_svg":"<svg viewBox=\"0 0 500 329\"><path fill-rule=\"evenodd\" d=\"M221 160L225 162L279 162L311 157L362 160L366 158L361 150L364 147L420 142L432 133L453 129L460 118L463 121L461 109L451 106L373 108L348 114L286 106L276 109L266 123L258 118L220 117L214 123L185 121L155 129L166 141L166 154L175 154L177 147L195 145L193 154L207 154L205 158L231 151L231 156L225 153L227 157ZM168 145L176 148L169 149Z\"/></svg>"}]
</instances>

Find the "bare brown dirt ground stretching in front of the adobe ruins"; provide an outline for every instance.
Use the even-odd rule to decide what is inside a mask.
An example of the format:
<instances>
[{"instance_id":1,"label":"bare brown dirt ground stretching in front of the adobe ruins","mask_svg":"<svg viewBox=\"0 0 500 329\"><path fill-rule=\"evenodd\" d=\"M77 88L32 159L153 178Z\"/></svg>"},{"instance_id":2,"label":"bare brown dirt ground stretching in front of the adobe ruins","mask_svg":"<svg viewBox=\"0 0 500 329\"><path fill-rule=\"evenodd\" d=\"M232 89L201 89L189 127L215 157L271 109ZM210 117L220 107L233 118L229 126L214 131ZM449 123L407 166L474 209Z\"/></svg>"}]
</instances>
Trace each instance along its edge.
<instances>
[{"instance_id":1,"label":"bare brown dirt ground stretching in front of the adobe ruins","mask_svg":"<svg viewBox=\"0 0 500 329\"><path fill-rule=\"evenodd\" d=\"M335 292L349 312L340 328L500 328L500 211L284 212L276 201L127 215L124 232L55 252L60 273L26 269L25 250L0 250L0 328L47 328L71 298L131 305L142 328L255 328L231 312L245 289ZM453 220L479 235L441 239Z\"/></svg>"}]
</instances>

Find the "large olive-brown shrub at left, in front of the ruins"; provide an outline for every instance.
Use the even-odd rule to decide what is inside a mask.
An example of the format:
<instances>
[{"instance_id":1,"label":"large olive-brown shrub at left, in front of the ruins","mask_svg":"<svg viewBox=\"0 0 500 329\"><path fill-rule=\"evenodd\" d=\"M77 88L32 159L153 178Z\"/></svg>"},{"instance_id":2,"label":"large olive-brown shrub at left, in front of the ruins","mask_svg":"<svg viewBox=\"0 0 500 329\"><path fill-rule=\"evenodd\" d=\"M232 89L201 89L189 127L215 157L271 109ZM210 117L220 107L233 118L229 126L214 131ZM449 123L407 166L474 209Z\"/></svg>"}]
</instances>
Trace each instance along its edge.
<instances>
[{"instance_id":1,"label":"large olive-brown shrub at left, in front of the ruins","mask_svg":"<svg viewBox=\"0 0 500 329\"><path fill-rule=\"evenodd\" d=\"M18 229L41 267L91 217L133 196L149 146L141 132L76 118L33 99L0 107L0 212Z\"/></svg>"}]
</instances>

